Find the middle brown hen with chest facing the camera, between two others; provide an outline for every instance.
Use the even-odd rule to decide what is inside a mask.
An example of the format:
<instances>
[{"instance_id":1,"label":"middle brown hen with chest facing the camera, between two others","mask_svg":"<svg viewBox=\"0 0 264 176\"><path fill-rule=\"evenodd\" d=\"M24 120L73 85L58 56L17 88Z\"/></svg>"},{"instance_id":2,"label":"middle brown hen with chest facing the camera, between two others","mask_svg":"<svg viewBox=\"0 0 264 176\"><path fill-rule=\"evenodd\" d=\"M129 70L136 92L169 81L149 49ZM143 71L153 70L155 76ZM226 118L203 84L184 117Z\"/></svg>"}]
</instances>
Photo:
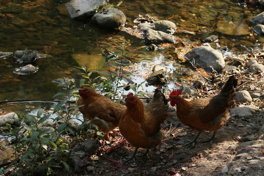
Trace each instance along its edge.
<instances>
[{"instance_id":1,"label":"middle brown hen with chest facing the camera, between two others","mask_svg":"<svg viewBox=\"0 0 264 176\"><path fill-rule=\"evenodd\" d=\"M127 109L119 121L119 130L135 150L124 163L135 157L138 148L147 149L144 154L148 154L149 149L160 145L163 139L160 125L174 115L167 112L168 101L159 89L155 90L152 100L145 108L133 93L128 94L125 102Z\"/></svg>"}]
</instances>

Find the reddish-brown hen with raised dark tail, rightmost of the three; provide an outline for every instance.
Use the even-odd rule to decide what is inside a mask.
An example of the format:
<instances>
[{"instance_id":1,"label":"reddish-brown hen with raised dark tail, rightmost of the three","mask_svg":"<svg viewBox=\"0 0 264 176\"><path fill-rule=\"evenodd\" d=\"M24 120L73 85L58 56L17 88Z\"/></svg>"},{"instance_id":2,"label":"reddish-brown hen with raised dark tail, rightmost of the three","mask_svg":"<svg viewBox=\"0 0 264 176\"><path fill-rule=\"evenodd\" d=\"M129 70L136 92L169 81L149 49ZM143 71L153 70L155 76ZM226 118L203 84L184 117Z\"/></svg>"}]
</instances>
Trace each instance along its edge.
<instances>
[{"instance_id":1,"label":"reddish-brown hen with raised dark tail, rightmost of the three","mask_svg":"<svg viewBox=\"0 0 264 176\"><path fill-rule=\"evenodd\" d=\"M196 140L203 130L213 131L213 136L204 142L213 141L216 132L229 119L230 108L234 105L236 97L237 79L230 76L218 95L186 101L180 94L179 89L173 90L170 94L171 105L176 105L178 119L185 125L198 131L197 136L188 144L196 143Z\"/></svg>"}]
</instances>

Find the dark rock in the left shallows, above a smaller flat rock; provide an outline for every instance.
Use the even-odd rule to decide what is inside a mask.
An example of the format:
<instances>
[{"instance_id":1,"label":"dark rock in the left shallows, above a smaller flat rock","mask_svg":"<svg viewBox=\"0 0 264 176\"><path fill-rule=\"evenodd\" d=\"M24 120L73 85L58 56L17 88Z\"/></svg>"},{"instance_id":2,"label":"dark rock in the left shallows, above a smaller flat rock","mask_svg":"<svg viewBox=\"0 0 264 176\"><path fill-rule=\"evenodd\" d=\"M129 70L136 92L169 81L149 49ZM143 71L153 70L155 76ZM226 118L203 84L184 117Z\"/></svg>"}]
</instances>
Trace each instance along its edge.
<instances>
[{"instance_id":1,"label":"dark rock in the left shallows, above a smaller flat rock","mask_svg":"<svg viewBox=\"0 0 264 176\"><path fill-rule=\"evenodd\" d=\"M34 50L24 50L24 51L17 50L14 53L14 58L16 58L17 61L20 63L32 63L36 59L45 58L45 56L39 54L38 51L34 51Z\"/></svg>"}]
</instances>

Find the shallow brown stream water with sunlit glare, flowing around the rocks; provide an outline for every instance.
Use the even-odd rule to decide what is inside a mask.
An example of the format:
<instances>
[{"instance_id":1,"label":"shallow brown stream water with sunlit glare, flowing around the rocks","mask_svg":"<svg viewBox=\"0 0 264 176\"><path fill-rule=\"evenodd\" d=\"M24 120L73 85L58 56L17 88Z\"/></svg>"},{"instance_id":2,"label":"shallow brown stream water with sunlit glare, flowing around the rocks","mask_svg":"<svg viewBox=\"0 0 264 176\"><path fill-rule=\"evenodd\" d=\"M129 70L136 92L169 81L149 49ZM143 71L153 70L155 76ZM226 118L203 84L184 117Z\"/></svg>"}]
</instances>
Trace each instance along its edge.
<instances>
[{"instance_id":1,"label":"shallow brown stream water with sunlit glare, flowing around the rocks","mask_svg":"<svg viewBox=\"0 0 264 176\"><path fill-rule=\"evenodd\" d=\"M80 78L82 71L74 66L92 68L100 66L102 51L125 52L137 49L128 56L133 65L132 81L144 81L155 64L169 66L168 84L164 88L176 88L174 83L188 83L197 70L183 62L184 53L192 44L212 34L219 37L220 46L227 46L229 54L242 53L250 47L262 50L264 38L255 35L250 19L261 11L254 7L238 5L237 0L123 0L118 7L127 17L126 27L133 27L139 14L149 14L159 20L169 20L177 25L174 34L181 42L172 47L160 47L156 51L146 49L144 40L123 31L102 29L88 22L70 18L65 7L69 0L1 0L0 1L0 51L37 50L46 58L37 59L35 74L17 75L13 70L24 66L13 55L0 58L0 101L13 99L52 100L57 92L54 79ZM119 0L110 0L117 4ZM184 32L190 31L194 34ZM153 91L155 87L145 87ZM125 92L127 93L127 92ZM0 110L22 111L36 114L37 110L50 110L52 103L11 103L0 105Z\"/></svg>"}]
</instances>

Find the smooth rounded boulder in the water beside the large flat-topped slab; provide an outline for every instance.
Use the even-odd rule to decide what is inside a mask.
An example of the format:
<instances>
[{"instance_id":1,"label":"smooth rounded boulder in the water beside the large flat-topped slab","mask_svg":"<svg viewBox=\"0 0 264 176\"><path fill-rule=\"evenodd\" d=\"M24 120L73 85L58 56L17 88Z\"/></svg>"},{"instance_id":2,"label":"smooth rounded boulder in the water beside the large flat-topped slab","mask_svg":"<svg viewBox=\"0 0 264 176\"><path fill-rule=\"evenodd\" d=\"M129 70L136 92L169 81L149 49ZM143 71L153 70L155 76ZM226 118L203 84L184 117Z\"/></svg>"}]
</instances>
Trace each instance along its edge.
<instances>
[{"instance_id":1,"label":"smooth rounded boulder in the water beside the large flat-topped slab","mask_svg":"<svg viewBox=\"0 0 264 176\"><path fill-rule=\"evenodd\" d=\"M126 16L121 10L115 8L103 9L92 16L91 22L114 29L125 24Z\"/></svg>"}]
</instances>

